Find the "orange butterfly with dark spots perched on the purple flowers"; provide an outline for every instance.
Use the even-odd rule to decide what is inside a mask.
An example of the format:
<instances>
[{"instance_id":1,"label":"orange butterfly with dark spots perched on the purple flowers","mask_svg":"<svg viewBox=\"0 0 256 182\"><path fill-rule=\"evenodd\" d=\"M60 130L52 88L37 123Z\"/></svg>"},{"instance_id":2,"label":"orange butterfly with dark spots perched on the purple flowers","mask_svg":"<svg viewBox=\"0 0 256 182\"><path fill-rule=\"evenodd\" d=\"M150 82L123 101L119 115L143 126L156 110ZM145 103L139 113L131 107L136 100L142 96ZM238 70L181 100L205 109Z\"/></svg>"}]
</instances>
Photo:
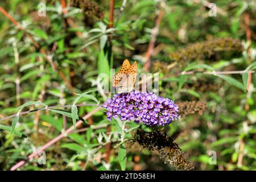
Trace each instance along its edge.
<instances>
[{"instance_id":1,"label":"orange butterfly with dark spots perched on the purple flowers","mask_svg":"<svg viewBox=\"0 0 256 182\"><path fill-rule=\"evenodd\" d=\"M113 86L117 88L117 93L131 92L137 76L137 62L132 65L129 60L124 60L122 67L113 77Z\"/></svg>"}]
</instances>

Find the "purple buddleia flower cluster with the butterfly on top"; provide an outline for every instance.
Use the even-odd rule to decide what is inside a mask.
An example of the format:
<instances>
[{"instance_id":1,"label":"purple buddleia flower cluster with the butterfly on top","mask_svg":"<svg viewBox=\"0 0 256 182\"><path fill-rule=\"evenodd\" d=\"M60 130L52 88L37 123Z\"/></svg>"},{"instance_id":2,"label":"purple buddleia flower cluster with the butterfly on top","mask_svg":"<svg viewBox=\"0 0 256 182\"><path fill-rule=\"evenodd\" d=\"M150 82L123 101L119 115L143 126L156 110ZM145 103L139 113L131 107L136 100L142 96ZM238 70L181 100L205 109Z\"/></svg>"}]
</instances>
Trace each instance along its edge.
<instances>
[{"instance_id":1,"label":"purple buddleia flower cluster with the butterfly on top","mask_svg":"<svg viewBox=\"0 0 256 182\"><path fill-rule=\"evenodd\" d=\"M115 94L102 107L108 110L110 121L121 116L122 121L141 121L149 126L168 125L179 116L179 107L172 100L137 90Z\"/></svg>"}]
</instances>

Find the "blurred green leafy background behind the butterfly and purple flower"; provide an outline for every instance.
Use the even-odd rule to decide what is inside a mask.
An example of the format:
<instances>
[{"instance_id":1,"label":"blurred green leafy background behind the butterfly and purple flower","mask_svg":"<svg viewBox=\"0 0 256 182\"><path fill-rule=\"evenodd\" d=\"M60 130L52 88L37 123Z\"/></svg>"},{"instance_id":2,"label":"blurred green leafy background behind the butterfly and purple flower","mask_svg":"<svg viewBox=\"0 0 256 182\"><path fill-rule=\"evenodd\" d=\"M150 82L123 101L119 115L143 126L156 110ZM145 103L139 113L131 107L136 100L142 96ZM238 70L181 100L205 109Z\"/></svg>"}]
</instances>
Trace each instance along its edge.
<instances>
[{"instance_id":1,"label":"blurred green leafy background behind the butterfly and purple flower","mask_svg":"<svg viewBox=\"0 0 256 182\"><path fill-rule=\"evenodd\" d=\"M46 16L39 17L42 2ZM214 1L217 16L209 16L207 1L115 1L113 27L113 1L63 2L0 2L1 170L65 134L76 112L83 117L97 108L74 103L102 104L110 97L97 91L103 83L97 76L110 75L124 59L137 60L138 73L159 72L159 95L180 103L179 121L164 130L194 169L256 169L255 1ZM151 66L143 69L158 18ZM72 114L46 109L3 119L18 107L28 111L45 105L69 105L55 109ZM157 152L127 142L138 127L151 130L109 122L105 110L94 110L44 150L46 164L36 155L19 169L175 169ZM209 163L211 151L216 164Z\"/></svg>"}]
</instances>

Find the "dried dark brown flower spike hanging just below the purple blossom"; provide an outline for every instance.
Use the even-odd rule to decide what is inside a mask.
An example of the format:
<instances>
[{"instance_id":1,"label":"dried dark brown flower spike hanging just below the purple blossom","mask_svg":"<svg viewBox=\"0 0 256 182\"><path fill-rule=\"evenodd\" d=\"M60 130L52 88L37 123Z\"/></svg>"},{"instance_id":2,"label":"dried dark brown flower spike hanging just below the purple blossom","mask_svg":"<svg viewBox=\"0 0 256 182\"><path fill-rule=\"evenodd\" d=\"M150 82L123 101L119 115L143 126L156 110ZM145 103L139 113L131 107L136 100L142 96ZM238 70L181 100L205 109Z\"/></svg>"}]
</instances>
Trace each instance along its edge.
<instances>
[{"instance_id":1,"label":"dried dark brown flower spike hanging just below the purple blossom","mask_svg":"<svg viewBox=\"0 0 256 182\"><path fill-rule=\"evenodd\" d=\"M191 170L191 163L184 159L183 151L174 138L168 137L167 133L161 130L145 132L138 130L134 135L134 141L151 151L158 151L160 158L164 158L164 163L172 164L176 169Z\"/></svg>"}]
</instances>

